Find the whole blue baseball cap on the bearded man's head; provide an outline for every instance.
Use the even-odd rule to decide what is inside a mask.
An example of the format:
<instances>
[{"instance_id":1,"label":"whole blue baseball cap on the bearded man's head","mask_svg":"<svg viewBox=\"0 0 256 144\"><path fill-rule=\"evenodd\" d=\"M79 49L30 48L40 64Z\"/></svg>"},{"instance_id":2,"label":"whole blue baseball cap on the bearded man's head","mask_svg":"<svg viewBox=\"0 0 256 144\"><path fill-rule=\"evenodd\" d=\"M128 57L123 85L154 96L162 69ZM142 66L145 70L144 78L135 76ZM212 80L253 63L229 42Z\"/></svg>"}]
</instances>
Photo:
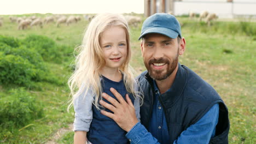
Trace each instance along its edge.
<instances>
[{"instance_id":1,"label":"whole blue baseball cap on the bearded man's head","mask_svg":"<svg viewBox=\"0 0 256 144\"><path fill-rule=\"evenodd\" d=\"M173 15L166 13L156 13L143 22L139 39L149 33L159 33L173 39L177 38L178 35L182 37L181 25L179 25L178 20Z\"/></svg>"}]
</instances>

